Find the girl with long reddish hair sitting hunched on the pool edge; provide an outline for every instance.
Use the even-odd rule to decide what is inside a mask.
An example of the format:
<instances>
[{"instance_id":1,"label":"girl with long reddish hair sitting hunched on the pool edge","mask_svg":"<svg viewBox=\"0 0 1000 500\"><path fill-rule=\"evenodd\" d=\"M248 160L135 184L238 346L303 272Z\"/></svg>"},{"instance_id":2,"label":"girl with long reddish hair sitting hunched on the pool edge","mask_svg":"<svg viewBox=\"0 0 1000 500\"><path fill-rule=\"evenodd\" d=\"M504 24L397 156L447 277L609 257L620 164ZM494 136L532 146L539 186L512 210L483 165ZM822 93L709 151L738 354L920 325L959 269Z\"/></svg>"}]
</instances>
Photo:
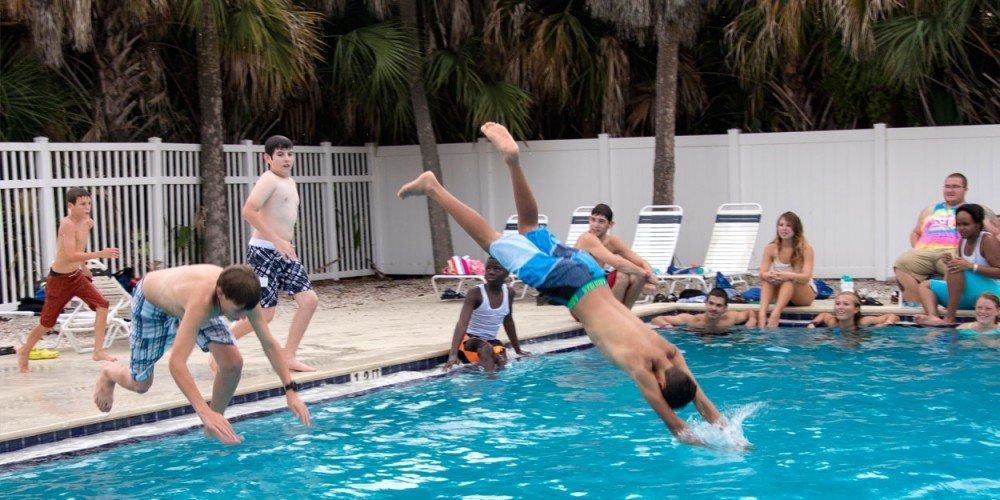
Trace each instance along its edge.
<instances>
[{"instance_id":1,"label":"girl with long reddish hair sitting hunched on the pool edge","mask_svg":"<svg viewBox=\"0 0 1000 500\"><path fill-rule=\"evenodd\" d=\"M760 263L760 312L757 324L778 326L781 311L789 304L807 306L816 299L812 280L813 249L806 241L802 219L795 212L778 217L777 235L764 247ZM770 318L767 307L774 300Z\"/></svg>"}]
</instances>

